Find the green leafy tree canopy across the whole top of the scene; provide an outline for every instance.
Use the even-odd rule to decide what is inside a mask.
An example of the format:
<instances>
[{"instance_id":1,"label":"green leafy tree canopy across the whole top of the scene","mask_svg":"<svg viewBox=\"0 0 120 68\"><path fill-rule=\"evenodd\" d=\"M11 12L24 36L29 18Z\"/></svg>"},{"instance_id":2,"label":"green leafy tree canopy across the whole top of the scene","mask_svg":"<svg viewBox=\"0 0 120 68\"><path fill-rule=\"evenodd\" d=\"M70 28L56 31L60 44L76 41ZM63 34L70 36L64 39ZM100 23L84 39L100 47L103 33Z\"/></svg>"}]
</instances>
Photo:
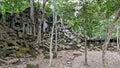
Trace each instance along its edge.
<instances>
[{"instance_id":1,"label":"green leafy tree canopy across the whole top of the scene","mask_svg":"<svg viewBox=\"0 0 120 68\"><path fill-rule=\"evenodd\" d=\"M39 1L39 2L38 2ZM106 28L114 18L114 14L120 9L119 0L58 0L58 15L63 15L64 23L77 33L83 33L89 37L104 36ZM42 0L35 0L36 7L42 6ZM39 6L38 6L39 5ZM0 10L18 13L29 7L29 0L2 0ZM53 0L45 6L45 14L52 14Z\"/></svg>"}]
</instances>

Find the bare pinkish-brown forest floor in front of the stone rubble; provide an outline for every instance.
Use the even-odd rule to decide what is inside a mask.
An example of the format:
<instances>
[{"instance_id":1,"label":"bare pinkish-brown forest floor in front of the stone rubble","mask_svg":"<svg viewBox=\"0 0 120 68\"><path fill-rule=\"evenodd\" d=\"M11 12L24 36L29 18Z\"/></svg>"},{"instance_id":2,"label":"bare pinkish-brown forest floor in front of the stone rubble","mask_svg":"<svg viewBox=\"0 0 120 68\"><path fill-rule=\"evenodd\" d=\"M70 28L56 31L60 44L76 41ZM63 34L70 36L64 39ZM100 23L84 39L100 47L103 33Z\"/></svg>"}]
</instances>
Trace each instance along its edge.
<instances>
[{"instance_id":1,"label":"bare pinkish-brown forest floor in front of the stone rubble","mask_svg":"<svg viewBox=\"0 0 120 68\"><path fill-rule=\"evenodd\" d=\"M84 56L84 52L78 50L59 51L58 58L52 61L52 68L86 68ZM118 52L107 51L106 56L108 68L120 68L120 55ZM21 64L3 65L0 68L26 68L26 64L38 64L38 67L35 68L49 68L49 59L44 59L44 55L40 54L35 59L25 59ZM88 68L103 68L102 51L88 51Z\"/></svg>"}]
</instances>

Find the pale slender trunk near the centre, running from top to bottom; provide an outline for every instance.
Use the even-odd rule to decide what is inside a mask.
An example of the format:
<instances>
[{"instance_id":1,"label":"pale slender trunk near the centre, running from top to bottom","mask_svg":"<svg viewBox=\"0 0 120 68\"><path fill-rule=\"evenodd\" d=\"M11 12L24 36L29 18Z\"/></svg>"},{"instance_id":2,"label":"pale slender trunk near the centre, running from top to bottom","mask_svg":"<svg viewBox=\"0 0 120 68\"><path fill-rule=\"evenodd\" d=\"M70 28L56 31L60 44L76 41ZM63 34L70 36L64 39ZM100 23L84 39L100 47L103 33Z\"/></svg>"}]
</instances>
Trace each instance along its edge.
<instances>
[{"instance_id":1,"label":"pale slender trunk near the centre, running from top to bottom","mask_svg":"<svg viewBox=\"0 0 120 68\"><path fill-rule=\"evenodd\" d=\"M56 6L57 6L57 0L54 0L54 9L53 9L53 27L52 27L52 33L51 33L51 41L50 41L50 62L49 62L49 67L52 67L52 59L53 59L53 33L54 33L54 26L57 23L57 10L56 10Z\"/></svg>"}]
</instances>

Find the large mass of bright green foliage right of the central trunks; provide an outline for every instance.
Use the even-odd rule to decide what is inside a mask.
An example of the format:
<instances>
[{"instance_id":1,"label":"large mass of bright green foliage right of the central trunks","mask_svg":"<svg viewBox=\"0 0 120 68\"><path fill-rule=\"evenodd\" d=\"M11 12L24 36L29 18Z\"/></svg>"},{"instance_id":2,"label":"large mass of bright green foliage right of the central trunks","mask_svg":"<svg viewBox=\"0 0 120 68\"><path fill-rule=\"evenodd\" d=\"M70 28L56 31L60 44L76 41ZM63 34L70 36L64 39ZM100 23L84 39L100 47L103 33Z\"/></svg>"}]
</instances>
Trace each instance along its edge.
<instances>
[{"instance_id":1,"label":"large mass of bright green foliage right of the central trunks","mask_svg":"<svg viewBox=\"0 0 120 68\"><path fill-rule=\"evenodd\" d=\"M65 2L65 1L64 1ZM76 32L94 36L105 36L110 17L120 7L120 1L116 0L93 0L77 3L63 3L59 1L59 13L63 13L64 21ZM77 17L74 16L75 6L82 6Z\"/></svg>"}]
</instances>

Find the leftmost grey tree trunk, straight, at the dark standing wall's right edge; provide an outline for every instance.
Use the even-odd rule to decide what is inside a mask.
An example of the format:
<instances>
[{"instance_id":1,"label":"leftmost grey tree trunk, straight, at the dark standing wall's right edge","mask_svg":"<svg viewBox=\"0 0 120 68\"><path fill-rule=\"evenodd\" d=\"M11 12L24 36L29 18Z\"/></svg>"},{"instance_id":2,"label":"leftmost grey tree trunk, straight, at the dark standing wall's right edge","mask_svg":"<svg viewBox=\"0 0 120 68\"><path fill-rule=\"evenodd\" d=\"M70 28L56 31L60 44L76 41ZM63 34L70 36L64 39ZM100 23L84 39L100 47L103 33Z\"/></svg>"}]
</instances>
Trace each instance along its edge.
<instances>
[{"instance_id":1,"label":"leftmost grey tree trunk, straight, at the dark standing wall's right edge","mask_svg":"<svg viewBox=\"0 0 120 68\"><path fill-rule=\"evenodd\" d=\"M32 23L32 33L35 36L35 22L34 22L34 0L30 0L30 20Z\"/></svg>"}]
</instances>

